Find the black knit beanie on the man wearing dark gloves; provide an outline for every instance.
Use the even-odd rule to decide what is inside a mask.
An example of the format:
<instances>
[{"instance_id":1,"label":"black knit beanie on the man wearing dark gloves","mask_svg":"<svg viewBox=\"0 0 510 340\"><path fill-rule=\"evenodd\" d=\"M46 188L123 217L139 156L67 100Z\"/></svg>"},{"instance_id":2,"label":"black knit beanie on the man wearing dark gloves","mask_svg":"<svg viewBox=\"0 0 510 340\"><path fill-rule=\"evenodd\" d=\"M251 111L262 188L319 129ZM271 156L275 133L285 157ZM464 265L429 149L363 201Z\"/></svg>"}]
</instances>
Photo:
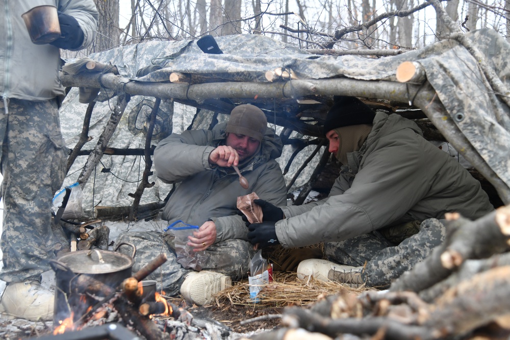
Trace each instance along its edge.
<instances>
[{"instance_id":1,"label":"black knit beanie on the man wearing dark gloves","mask_svg":"<svg viewBox=\"0 0 510 340\"><path fill-rule=\"evenodd\" d=\"M356 97L335 96L324 121L324 135L342 126L372 124L375 112Z\"/></svg>"}]
</instances>

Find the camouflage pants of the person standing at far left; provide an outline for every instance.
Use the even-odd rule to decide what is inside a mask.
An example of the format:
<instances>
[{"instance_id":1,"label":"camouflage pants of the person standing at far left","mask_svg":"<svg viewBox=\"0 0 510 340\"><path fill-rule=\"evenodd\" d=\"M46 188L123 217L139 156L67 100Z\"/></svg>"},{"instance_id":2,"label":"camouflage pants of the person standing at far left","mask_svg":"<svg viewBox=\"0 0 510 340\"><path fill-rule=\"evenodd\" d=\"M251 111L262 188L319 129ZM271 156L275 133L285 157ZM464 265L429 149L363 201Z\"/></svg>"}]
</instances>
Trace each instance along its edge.
<instances>
[{"instance_id":1,"label":"camouflage pants of the person standing at far left","mask_svg":"<svg viewBox=\"0 0 510 340\"><path fill-rule=\"evenodd\" d=\"M56 100L0 102L4 222L0 279L19 282L50 269L54 193L67 166Z\"/></svg>"}]
</instances>

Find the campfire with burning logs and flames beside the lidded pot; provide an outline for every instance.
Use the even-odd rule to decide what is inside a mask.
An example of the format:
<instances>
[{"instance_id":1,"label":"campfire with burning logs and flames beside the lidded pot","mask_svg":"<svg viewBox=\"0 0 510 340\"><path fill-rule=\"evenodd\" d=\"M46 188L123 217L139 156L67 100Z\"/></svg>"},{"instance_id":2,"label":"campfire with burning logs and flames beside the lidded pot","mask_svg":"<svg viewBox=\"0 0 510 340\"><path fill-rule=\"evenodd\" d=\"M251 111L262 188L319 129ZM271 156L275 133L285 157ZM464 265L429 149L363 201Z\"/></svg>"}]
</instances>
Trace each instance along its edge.
<instances>
[{"instance_id":1,"label":"campfire with burning logs and flames beside the lidded pot","mask_svg":"<svg viewBox=\"0 0 510 340\"><path fill-rule=\"evenodd\" d=\"M188 311L168 302L165 292L157 292L156 281L143 280L165 261L166 256L159 255L116 287L84 274L75 274L67 281L67 292L59 290L57 284L53 334L86 330L121 319L144 337L158 339L163 332L152 320L155 316L172 317L189 325L193 317Z\"/></svg>"}]
</instances>

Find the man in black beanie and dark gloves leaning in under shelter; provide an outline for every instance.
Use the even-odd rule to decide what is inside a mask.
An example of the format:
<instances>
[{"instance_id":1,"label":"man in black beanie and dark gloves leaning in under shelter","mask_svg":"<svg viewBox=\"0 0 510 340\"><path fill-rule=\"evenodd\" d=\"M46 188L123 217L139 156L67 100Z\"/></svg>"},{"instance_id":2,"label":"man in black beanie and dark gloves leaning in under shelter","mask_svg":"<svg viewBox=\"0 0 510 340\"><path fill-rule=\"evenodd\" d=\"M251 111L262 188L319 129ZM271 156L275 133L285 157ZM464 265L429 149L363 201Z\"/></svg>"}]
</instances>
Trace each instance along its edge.
<instances>
[{"instance_id":1,"label":"man in black beanie and dark gloves leaning in under shelter","mask_svg":"<svg viewBox=\"0 0 510 340\"><path fill-rule=\"evenodd\" d=\"M338 99L324 132L343 166L328 198L283 207L256 200L264 221L249 225L248 238L261 246L277 239L286 248L324 242L329 260L301 261L298 278L387 286L444 240L445 213L477 219L494 207L416 123L374 113L354 97Z\"/></svg>"}]
</instances>

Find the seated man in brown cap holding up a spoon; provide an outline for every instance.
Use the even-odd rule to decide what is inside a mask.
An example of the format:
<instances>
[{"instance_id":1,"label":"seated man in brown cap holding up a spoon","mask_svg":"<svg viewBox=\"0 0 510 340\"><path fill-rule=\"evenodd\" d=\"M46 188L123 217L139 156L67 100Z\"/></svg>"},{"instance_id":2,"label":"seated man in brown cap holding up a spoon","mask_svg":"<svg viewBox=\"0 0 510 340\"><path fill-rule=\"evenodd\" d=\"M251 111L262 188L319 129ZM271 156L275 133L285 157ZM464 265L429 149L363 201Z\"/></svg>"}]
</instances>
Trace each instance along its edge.
<instances>
[{"instance_id":1,"label":"seated man in brown cap holding up a spoon","mask_svg":"<svg viewBox=\"0 0 510 340\"><path fill-rule=\"evenodd\" d=\"M162 140L154 151L156 173L164 182L179 184L164 207L163 218L200 226L188 245L194 251L205 250L208 259L201 271L193 271L177 263L168 233L125 232L116 244L136 246L133 270L166 253L167 262L148 278L157 280L158 289L167 295L181 292L197 305L213 301L213 295L232 280L246 276L254 250L238 215L237 197L255 192L273 204L286 203L285 180L275 161L282 148L274 130L267 128L262 110L249 104L234 108L228 123L212 130L187 130ZM248 180L247 189L232 168L237 165ZM121 246L120 251L129 254L131 250Z\"/></svg>"}]
</instances>

